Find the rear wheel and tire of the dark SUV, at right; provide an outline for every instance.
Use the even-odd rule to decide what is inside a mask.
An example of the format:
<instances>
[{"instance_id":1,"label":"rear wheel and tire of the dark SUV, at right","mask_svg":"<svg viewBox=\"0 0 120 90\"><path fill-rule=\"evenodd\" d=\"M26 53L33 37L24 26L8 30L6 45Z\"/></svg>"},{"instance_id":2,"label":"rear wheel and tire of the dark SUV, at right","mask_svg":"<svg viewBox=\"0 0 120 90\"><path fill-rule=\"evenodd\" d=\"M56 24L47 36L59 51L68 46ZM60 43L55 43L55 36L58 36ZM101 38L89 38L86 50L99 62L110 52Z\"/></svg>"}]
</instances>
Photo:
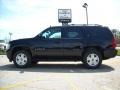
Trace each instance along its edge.
<instances>
[{"instance_id":1,"label":"rear wheel and tire of the dark SUV, at right","mask_svg":"<svg viewBox=\"0 0 120 90\"><path fill-rule=\"evenodd\" d=\"M96 49L88 49L83 55L83 63L86 68L96 69L102 64L102 55Z\"/></svg>"}]
</instances>

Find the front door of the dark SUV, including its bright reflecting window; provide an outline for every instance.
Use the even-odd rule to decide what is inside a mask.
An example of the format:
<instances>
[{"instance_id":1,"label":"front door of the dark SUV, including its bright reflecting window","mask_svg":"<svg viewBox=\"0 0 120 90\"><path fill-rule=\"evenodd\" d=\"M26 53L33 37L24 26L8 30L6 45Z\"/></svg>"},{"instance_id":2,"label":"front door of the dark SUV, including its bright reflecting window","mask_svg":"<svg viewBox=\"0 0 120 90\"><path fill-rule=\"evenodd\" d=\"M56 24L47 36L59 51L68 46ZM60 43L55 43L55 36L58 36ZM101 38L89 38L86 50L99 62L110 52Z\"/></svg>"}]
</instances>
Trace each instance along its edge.
<instances>
[{"instance_id":1,"label":"front door of the dark SUV, including its bright reflecting window","mask_svg":"<svg viewBox=\"0 0 120 90\"><path fill-rule=\"evenodd\" d=\"M62 56L63 43L60 28L48 28L40 35L37 40L36 54L39 56Z\"/></svg>"}]
</instances>

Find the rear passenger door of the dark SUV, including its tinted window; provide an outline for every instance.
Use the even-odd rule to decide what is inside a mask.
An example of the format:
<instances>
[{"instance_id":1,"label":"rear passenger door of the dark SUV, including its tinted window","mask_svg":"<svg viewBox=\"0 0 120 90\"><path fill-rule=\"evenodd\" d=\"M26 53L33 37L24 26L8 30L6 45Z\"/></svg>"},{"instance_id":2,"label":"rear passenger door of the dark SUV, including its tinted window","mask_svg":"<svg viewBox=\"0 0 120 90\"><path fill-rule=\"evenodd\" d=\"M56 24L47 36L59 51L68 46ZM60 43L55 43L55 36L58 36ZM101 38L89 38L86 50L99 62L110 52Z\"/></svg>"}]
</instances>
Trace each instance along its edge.
<instances>
[{"instance_id":1,"label":"rear passenger door of the dark SUV, including its tinted window","mask_svg":"<svg viewBox=\"0 0 120 90\"><path fill-rule=\"evenodd\" d=\"M82 28L64 27L63 31L64 56L80 56L84 44Z\"/></svg>"}]
</instances>

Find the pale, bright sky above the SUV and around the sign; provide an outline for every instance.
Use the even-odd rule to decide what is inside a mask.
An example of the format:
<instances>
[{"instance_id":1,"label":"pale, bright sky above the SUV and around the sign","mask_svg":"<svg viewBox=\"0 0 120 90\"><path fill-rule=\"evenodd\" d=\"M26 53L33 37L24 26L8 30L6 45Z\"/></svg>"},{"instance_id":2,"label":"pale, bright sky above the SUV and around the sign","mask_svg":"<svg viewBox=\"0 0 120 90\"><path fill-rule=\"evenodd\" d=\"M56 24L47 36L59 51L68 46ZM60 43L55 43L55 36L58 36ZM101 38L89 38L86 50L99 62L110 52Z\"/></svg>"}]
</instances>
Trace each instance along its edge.
<instances>
[{"instance_id":1,"label":"pale, bright sky above the SUV and around the sign","mask_svg":"<svg viewBox=\"0 0 120 90\"><path fill-rule=\"evenodd\" d=\"M71 24L88 23L120 29L120 0L0 0L0 39L34 37L58 22L58 9L71 9Z\"/></svg>"}]
</instances>

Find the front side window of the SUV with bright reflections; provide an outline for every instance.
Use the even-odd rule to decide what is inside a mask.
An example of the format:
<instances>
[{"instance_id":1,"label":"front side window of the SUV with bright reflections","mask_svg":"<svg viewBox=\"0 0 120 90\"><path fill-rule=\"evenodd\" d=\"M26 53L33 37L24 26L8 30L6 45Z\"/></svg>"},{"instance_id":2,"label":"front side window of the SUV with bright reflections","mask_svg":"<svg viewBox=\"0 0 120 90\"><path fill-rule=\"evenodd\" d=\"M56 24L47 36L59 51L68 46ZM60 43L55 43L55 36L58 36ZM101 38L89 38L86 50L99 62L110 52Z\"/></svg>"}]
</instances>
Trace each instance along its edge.
<instances>
[{"instance_id":1,"label":"front side window of the SUV with bright reflections","mask_svg":"<svg viewBox=\"0 0 120 90\"><path fill-rule=\"evenodd\" d=\"M44 38L61 38L60 28L50 28L43 32L42 37Z\"/></svg>"}]
</instances>

